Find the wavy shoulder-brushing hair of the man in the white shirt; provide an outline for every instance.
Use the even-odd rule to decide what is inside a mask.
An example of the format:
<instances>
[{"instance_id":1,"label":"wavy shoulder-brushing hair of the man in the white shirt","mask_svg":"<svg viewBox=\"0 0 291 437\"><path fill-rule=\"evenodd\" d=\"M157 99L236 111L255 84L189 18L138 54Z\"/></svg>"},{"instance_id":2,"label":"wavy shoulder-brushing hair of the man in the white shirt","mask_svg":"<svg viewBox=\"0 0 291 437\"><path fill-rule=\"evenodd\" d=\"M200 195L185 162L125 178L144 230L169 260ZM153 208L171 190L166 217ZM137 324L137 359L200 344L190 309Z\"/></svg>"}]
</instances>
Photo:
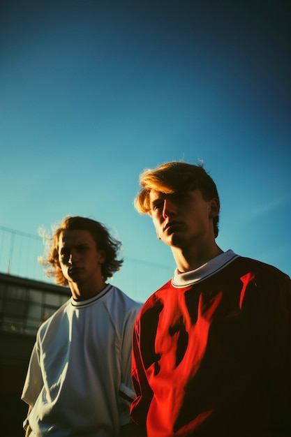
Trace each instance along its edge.
<instances>
[{"instance_id":1,"label":"wavy shoulder-brushing hair of the man in the white shirt","mask_svg":"<svg viewBox=\"0 0 291 437\"><path fill-rule=\"evenodd\" d=\"M91 218L80 216L67 216L59 226L54 230L53 235L46 235L44 230L40 229L40 235L45 243L45 253L39 257L38 261L43 265L47 276L54 276L57 284L67 286L68 281L61 272L59 263L59 236L64 230L87 230L96 242L98 250L105 252L105 261L101 265L101 271L104 281L112 277L114 272L120 269L123 259L117 259L117 254L121 248L121 242L110 236L109 231L102 223L92 220Z\"/></svg>"}]
</instances>

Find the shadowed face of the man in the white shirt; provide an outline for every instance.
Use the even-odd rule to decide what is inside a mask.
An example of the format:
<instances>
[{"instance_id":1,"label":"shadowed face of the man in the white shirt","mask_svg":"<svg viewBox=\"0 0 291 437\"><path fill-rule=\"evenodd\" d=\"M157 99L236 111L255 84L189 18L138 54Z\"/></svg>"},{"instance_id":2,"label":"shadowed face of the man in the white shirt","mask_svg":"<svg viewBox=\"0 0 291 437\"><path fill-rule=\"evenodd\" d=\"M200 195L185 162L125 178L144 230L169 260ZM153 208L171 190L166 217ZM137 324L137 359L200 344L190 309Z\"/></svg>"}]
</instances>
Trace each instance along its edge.
<instances>
[{"instance_id":1,"label":"shadowed face of the man in the white shirt","mask_svg":"<svg viewBox=\"0 0 291 437\"><path fill-rule=\"evenodd\" d=\"M65 230L59 236L59 263L70 283L88 283L94 286L102 279L101 265L105 260L96 242L87 230Z\"/></svg>"}]
</instances>

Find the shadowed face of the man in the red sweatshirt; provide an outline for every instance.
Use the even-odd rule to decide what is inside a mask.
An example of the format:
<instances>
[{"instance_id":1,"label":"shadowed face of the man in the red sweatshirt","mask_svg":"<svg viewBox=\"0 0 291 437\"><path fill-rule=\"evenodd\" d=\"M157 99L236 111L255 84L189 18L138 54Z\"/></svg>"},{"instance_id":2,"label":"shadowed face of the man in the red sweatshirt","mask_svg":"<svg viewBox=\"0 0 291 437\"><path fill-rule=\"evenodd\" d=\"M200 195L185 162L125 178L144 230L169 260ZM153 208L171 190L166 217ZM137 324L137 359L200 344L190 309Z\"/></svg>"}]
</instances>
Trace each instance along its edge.
<instances>
[{"instance_id":1,"label":"shadowed face of the man in the red sweatshirt","mask_svg":"<svg viewBox=\"0 0 291 437\"><path fill-rule=\"evenodd\" d=\"M151 191L151 218L165 244L185 248L214 242L213 218L218 215L217 199L204 200L200 190L165 194Z\"/></svg>"}]
</instances>

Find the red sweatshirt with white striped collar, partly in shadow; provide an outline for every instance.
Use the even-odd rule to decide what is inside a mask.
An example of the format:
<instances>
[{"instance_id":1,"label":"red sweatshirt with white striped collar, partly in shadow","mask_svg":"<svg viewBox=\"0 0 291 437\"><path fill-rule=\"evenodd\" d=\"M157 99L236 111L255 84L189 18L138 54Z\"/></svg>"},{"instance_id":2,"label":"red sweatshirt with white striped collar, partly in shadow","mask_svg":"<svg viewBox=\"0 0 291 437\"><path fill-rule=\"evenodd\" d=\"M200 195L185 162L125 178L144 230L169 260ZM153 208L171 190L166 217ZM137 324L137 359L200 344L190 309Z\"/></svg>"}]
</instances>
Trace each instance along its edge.
<instances>
[{"instance_id":1,"label":"red sweatshirt with white striped collar, partly in shadow","mask_svg":"<svg viewBox=\"0 0 291 437\"><path fill-rule=\"evenodd\" d=\"M131 406L148 437L291 435L290 284L227 251L149 297Z\"/></svg>"}]
</instances>

